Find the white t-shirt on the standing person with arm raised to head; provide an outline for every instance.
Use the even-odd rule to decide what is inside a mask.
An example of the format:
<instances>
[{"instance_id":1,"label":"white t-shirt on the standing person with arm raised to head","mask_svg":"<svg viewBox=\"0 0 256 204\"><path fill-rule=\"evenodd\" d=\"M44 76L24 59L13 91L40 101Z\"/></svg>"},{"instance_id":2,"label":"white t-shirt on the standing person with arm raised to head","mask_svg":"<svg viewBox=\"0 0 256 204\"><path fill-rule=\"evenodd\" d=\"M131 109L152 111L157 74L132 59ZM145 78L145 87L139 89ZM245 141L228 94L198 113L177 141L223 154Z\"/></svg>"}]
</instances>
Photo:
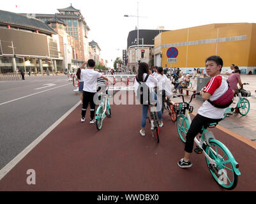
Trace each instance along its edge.
<instances>
[{"instance_id":1,"label":"white t-shirt on the standing person with arm raised to head","mask_svg":"<svg viewBox=\"0 0 256 204\"><path fill-rule=\"evenodd\" d=\"M83 69L82 80L84 81L84 89L83 91L96 93L97 89L97 78L102 77L102 74L98 71L94 71L93 69Z\"/></svg>"}]
</instances>

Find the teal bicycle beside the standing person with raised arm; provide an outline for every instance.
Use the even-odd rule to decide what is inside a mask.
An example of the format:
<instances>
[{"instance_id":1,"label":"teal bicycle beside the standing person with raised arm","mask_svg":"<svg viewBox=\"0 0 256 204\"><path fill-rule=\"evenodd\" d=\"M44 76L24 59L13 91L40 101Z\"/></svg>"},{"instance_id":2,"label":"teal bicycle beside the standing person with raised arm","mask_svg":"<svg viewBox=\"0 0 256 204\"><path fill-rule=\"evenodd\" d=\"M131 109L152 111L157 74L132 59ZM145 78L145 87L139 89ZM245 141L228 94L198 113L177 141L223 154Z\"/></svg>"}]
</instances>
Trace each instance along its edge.
<instances>
[{"instance_id":1,"label":"teal bicycle beside the standing person with raised arm","mask_svg":"<svg viewBox=\"0 0 256 204\"><path fill-rule=\"evenodd\" d=\"M100 97L100 105L98 106L96 110L96 127L98 130L102 129L103 120L105 117L111 117L111 108L109 103L109 91L102 91L100 94L98 94Z\"/></svg>"}]
</instances>

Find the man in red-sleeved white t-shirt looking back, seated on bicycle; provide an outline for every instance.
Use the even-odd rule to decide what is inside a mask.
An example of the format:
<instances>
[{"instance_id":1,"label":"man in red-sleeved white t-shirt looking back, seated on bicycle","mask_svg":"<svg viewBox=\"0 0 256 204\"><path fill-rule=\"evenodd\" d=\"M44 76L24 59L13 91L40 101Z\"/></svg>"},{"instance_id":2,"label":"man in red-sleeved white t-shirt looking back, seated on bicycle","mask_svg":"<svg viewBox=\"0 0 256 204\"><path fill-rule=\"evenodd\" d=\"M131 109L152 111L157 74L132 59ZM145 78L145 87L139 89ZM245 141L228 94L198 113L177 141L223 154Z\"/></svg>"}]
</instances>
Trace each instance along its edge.
<instances>
[{"instance_id":1,"label":"man in red-sleeved white t-shirt looking back, seated on bicycle","mask_svg":"<svg viewBox=\"0 0 256 204\"><path fill-rule=\"evenodd\" d=\"M204 103L200 106L186 134L184 157L177 163L180 168L189 168L192 166L189 160L190 154L193 150L194 138L200 133L202 126L219 122L223 118L225 108L216 108L207 101L208 99L214 101L220 98L229 88L227 80L220 75L222 66L223 60L219 56L213 55L206 59L206 73L211 77L211 80L207 83L205 89L200 91L200 96L204 99Z\"/></svg>"}]
</instances>

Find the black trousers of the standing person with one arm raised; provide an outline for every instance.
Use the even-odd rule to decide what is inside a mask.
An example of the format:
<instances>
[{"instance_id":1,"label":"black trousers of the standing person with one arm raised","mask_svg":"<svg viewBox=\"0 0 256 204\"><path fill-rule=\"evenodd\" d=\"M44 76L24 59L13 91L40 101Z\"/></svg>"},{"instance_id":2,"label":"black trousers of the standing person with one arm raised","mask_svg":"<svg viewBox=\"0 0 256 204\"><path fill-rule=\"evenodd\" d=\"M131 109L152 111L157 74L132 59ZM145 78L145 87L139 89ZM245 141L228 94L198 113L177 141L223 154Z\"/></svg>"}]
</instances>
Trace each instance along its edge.
<instances>
[{"instance_id":1,"label":"black trousers of the standing person with one arm raised","mask_svg":"<svg viewBox=\"0 0 256 204\"><path fill-rule=\"evenodd\" d=\"M95 114L95 103L93 101L94 92L83 91L83 101L82 101L82 117L86 117L86 110L88 107L88 103L90 103L91 107L91 120L94 119Z\"/></svg>"}]
</instances>

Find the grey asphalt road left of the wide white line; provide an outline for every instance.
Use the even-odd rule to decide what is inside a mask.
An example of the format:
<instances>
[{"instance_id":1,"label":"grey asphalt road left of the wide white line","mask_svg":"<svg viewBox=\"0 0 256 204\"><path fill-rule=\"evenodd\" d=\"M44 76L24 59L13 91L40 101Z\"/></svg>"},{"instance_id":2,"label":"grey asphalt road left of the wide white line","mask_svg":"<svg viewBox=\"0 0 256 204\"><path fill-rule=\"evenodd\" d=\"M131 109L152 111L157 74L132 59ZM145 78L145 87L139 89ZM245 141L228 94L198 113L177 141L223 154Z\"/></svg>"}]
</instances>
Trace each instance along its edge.
<instances>
[{"instance_id":1,"label":"grey asphalt road left of the wide white line","mask_svg":"<svg viewBox=\"0 0 256 204\"><path fill-rule=\"evenodd\" d=\"M66 76L0 82L0 169L79 102Z\"/></svg>"}]
</instances>

